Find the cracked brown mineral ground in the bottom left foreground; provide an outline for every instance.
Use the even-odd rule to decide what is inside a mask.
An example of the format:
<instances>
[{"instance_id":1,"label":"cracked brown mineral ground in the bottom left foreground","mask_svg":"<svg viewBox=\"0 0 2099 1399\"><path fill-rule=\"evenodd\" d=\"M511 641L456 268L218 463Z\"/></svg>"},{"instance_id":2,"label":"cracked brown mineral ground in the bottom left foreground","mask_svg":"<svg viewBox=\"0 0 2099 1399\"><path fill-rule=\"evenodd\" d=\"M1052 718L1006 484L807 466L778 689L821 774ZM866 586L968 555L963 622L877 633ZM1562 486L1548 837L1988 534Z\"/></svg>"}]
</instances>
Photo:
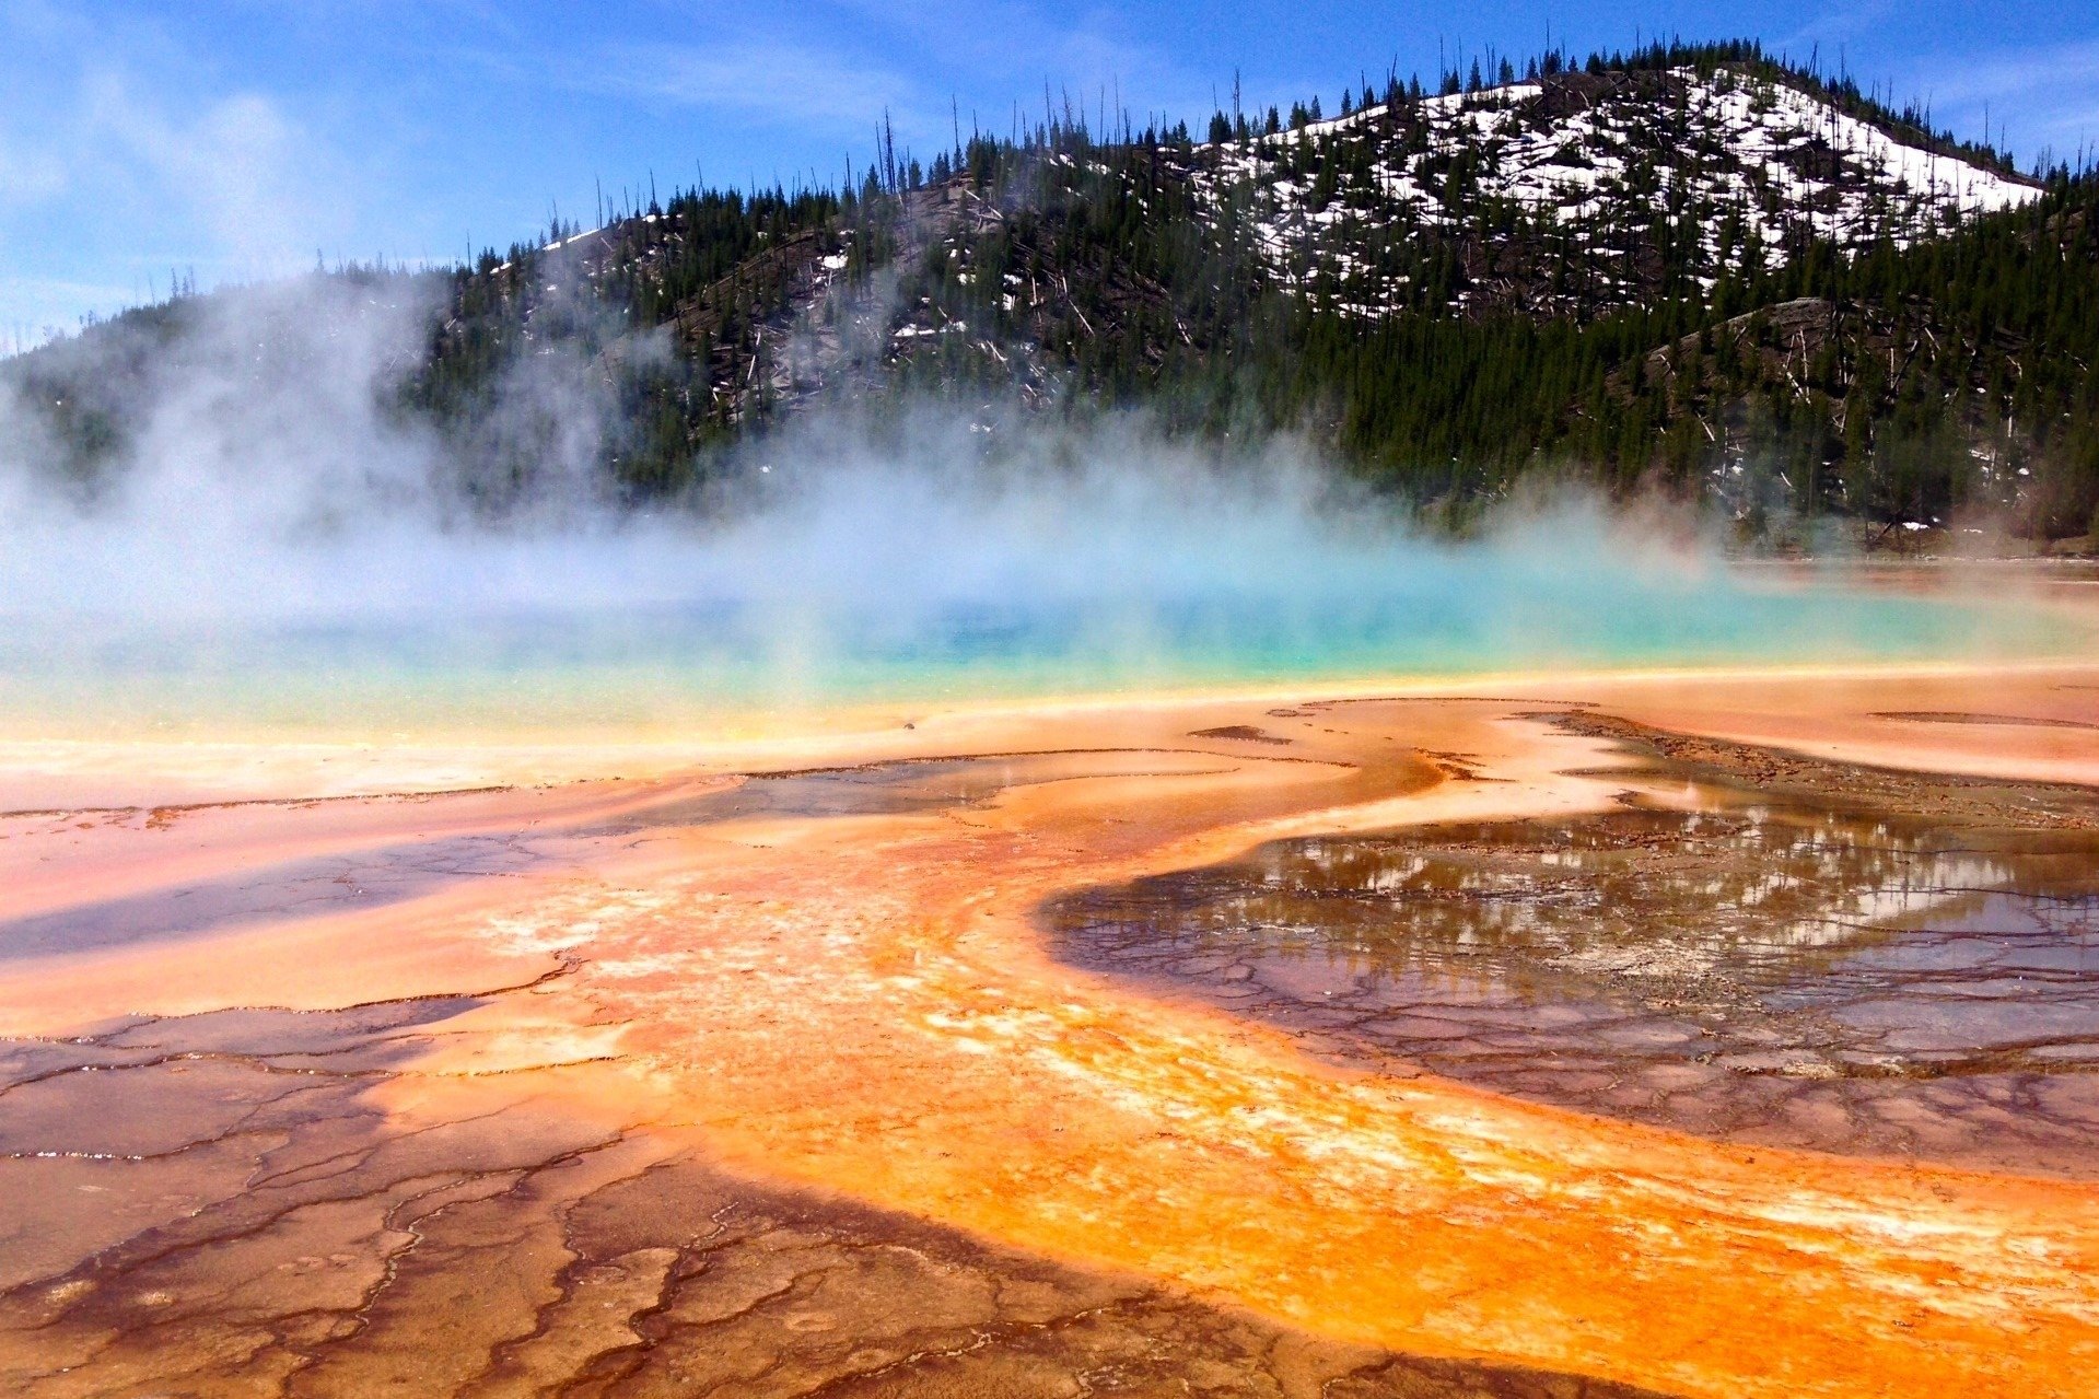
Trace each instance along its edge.
<instances>
[{"instance_id":1,"label":"cracked brown mineral ground in the bottom left foreground","mask_svg":"<svg viewBox=\"0 0 2099 1399\"><path fill-rule=\"evenodd\" d=\"M533 989L10 1042L6 1393L1641 1395L1320 1340L531 1092L426 1122L369 1103L449 1021Z\"/></svg>"}]
</instances>

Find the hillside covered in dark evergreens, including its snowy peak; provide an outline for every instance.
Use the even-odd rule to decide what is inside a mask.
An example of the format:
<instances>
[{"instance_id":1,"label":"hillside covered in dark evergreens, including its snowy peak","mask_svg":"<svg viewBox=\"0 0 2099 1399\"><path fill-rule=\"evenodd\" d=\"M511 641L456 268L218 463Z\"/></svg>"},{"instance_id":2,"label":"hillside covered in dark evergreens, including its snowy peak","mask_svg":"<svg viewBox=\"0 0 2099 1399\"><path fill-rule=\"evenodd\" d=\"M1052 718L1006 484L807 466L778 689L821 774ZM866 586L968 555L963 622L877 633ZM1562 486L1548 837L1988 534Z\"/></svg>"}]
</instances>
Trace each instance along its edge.
<instances>
[{"instance_id":1,"label":"hillside covered in dark evergreens, including its snowy peak","mask_svg":"<svg viewBox=\"0 0 2099 1399\"><path fill-rule=\"evenodd\" d=\"M487 515L537 489L567 414L655 502L810 412L932 399L1142 410L1220 450L1299 433L1457 527L1568 477L1748 538L1990 515L2063 540L2099 534L2095 193L1755 44L1658 44L1199 132L1045 99L930 160L879 132L835 189L680 191L449 273L330 277L424 307L388 412ZM0 368L57 471L122 460L204 302ZM588 395L521 395L550 357Z\"/></svg>"}]
</instances>

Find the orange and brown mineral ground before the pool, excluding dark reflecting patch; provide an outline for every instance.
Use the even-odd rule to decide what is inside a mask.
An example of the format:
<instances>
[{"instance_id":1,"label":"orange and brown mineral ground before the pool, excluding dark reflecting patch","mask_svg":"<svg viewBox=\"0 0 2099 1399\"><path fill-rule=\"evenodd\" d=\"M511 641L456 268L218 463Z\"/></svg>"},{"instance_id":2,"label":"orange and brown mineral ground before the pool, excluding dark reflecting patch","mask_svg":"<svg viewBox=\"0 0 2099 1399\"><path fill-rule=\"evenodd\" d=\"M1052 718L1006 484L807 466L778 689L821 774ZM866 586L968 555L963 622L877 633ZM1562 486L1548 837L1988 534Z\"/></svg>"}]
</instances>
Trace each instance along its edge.
<instances>
[{"instance_id":1,"label":"orange and brown mineral ground before the pool, excluding dark reflecting patch","mask_svg":"<svg viewBox=\"0 0 2099 1399\"><path fill-rule=\"evenodd\" d=\"M1602 811L1625 756L1536 718L1570 706L2099 784L2099 666L1312 697L741 748L0 748L0 1376L2099 1393L2089 1183L1352 1071L1073 970L1037 924L1282 836ZM1003 767L722 805L802 790L747 773L968 754ZM739 1269L747 1294L707 1292ZM1098 1338L1110 1313L1138 1340Z\"/></svg>"}]
</instances>

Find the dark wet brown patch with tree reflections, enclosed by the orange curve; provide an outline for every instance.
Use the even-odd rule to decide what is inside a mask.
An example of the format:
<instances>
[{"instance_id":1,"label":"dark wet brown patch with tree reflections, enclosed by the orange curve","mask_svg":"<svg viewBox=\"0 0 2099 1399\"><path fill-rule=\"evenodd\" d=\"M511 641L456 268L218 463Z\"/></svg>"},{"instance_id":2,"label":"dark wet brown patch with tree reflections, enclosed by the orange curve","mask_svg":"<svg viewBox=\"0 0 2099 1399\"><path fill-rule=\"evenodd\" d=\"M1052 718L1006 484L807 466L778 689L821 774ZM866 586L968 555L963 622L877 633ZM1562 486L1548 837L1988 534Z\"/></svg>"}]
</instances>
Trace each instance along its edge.
<instances>
[{"instance_id":1,"label":"dark wet brown patch with tree reflections, enclosed by the orange curve","mask_svg":"<svg viewBox=\"0 0 2099 1399\"><path fill-rule=\"evenodd\" d=\"M1644 754L1620 811L1287 840L1043 922L1075 964L1350 1063L1725 1141L2099 1176L2089 792L1562 723Z\"/></svg>"}]
</instances>

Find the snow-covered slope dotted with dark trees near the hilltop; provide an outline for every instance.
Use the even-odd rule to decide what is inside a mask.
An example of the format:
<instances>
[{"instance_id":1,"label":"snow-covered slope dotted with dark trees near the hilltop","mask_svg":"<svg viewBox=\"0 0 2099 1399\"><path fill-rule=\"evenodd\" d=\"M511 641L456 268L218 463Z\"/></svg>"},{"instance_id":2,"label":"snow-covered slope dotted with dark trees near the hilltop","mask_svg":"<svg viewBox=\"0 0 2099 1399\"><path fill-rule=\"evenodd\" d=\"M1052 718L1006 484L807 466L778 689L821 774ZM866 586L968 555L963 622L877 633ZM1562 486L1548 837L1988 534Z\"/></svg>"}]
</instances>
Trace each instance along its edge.
<instances>
[{"instance_id":1,"label":"snow-covered slope dotted with dark trees near the hilltop","mask_svg":"<svg viewBox=\"0 0 2099 1399\"><path fill-rule=\"evenodd\" d=\"M1285 284L1324 277L1339 305L1373 315L1419 305L1402 258L1379 265L1375 250L1394 239L1442 233L1503 250L1530 239L1530 263L1572 263L1570 298L1595 305L1639 296L1652 281L1639 260L1656 246L1688 252L1711 288L1725 267L1780 267L1809 239L1910 244L2040 195L1727 67L1572 74L1377 105L1203 147L1192 174L1220 218L1236 210ZM1492 271L1497 256L1507 260L1478 256L1469 271ZM1526 284L1536 273L1528 267Z\"/></svg>"}]
</instances>

